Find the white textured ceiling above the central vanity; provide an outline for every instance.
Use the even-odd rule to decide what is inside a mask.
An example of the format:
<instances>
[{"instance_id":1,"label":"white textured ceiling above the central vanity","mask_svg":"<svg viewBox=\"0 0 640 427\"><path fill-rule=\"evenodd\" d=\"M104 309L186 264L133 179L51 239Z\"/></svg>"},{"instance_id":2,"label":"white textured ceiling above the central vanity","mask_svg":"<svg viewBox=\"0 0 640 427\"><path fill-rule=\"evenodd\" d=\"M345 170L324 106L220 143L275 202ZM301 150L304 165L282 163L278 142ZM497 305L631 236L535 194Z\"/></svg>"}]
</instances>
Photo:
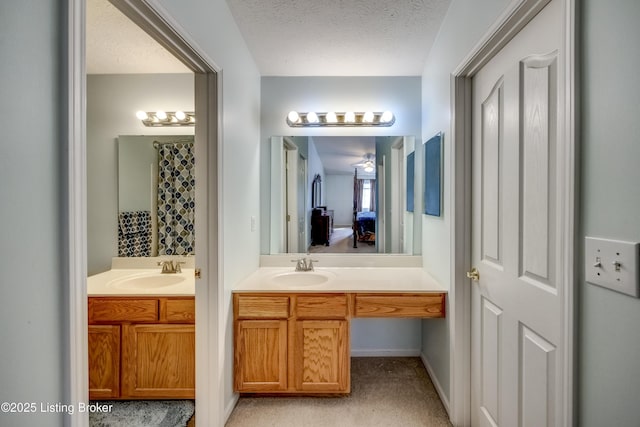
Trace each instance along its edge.
<instances>
[{"instance_id":1,"label":"white textured ceiling above the central vanity","mask_svg":"<svg viewBox=\"0 0 640 427\"><path fill-rule=\"evenodd\" d=\"M450 0L227 0L265 76L417 76Z\"/></svg>"}]
</instances>

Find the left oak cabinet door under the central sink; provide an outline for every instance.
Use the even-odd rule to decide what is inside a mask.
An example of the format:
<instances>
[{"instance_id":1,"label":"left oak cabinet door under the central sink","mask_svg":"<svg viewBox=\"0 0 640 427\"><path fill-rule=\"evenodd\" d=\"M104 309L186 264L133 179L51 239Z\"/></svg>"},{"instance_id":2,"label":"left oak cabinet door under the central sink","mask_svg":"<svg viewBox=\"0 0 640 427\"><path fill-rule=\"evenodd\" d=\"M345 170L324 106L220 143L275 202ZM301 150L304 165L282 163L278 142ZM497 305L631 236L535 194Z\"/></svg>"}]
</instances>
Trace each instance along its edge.
<instances>
[{"instance_id":1,"label":"left oak cabinet door under the central sink","mask_svg":"<svg viewBox=\"0 0 640 427\"><path fill-rule=\"evenodd\" d=\"M286 390L286 320L237 321L234 347L236 391Z\"/></svg>"}]
</instances>

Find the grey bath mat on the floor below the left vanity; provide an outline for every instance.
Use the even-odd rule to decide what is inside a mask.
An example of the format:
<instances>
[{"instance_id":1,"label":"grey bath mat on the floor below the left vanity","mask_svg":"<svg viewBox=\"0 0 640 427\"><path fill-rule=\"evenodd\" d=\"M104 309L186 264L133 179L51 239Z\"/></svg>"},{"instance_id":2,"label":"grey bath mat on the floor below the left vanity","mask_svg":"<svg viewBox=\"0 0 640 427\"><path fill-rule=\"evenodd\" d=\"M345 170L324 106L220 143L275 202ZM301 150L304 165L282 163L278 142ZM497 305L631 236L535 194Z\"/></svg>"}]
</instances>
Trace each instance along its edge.
<instances>
[{"instance_id":1,"label":"grey bath mat on the floor below the left vanity","mask_svg":"<svg viewBox=\"0 0 640 427\"><path fill-rule=\"evenodd\" d=\"M90 427L184 427L193 416L193 400L100 401L109 412L90 412Z\"/></svg>"}]
</instances>

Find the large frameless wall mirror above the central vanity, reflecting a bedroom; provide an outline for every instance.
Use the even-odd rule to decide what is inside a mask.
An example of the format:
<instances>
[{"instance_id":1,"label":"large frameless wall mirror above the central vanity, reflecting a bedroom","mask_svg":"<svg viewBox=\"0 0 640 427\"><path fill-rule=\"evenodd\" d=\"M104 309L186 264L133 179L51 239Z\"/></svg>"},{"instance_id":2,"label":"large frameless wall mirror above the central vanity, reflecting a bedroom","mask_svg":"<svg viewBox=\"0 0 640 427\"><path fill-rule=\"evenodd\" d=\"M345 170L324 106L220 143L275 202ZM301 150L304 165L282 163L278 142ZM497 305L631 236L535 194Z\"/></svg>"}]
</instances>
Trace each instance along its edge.
<instances>
[{"instance_id":1,"label":"large frameless wall mirror above the central vanity, reflecting a bedroom","mask_svg":"<svg viewBox=\"0 0 640 427\"><path fill-rule=\"evenodd\" d=\"M270 253L417 254L414 148L412 136L272 137Z\"/></svg>"}]
</instances>

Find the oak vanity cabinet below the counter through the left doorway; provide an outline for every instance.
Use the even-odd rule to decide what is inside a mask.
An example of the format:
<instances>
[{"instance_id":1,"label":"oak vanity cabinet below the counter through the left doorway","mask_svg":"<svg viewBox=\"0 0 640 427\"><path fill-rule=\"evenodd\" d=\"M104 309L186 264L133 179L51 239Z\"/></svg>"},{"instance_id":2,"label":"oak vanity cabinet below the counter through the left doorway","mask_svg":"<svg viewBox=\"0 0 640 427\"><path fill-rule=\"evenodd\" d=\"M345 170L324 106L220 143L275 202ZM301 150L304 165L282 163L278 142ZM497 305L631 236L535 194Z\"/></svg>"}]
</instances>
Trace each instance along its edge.
<instances>
[{"instance_id":1,"label":"oak vanity cabinet below the counter through the left doorway","mask_svg":"<svg viewBox=\"0 0 640 427\"><path fill-rule=\"evenodd\" d=\"M90 297L89 398L195 398L193 297Z\"/></svg>"}]
</instances>

